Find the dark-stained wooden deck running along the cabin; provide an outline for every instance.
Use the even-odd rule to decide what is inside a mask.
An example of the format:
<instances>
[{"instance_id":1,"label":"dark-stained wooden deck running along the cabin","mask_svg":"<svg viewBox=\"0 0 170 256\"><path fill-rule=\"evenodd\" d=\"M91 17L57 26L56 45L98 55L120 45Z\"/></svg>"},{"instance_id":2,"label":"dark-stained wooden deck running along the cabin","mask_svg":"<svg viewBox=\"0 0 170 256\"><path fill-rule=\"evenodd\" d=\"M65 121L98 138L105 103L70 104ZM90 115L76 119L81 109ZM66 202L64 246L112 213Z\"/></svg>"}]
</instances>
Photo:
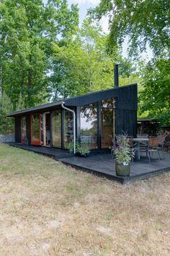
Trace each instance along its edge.
<instances>
[{"instance_id":1,"label":"dark-stained wooden deck running along the cabin","mask_svg":"<svg viewBox=\"0 0 170 256\"><path fill-rule=\"evenodd\" d=\"M170 154L165 153L165 159L161 154L161 161L153 158L149 163L148 158L141 157L140 161L131 163L130 176L117 176L115 173L115 161L110 157L109 153L91 153L86 158L74 156L66 150L58 150L55 148L45 148L40 146L22 145L21 143L9 143L17 148L31 150L36 153L41 153L53 157L56 161L61 161L66 165L73 166L82 171L88 171L92 174L107 176L117 182L125 184L138 179L146 179L151 176L162 174L170 171Z\"/></svg>"}]
</instances>

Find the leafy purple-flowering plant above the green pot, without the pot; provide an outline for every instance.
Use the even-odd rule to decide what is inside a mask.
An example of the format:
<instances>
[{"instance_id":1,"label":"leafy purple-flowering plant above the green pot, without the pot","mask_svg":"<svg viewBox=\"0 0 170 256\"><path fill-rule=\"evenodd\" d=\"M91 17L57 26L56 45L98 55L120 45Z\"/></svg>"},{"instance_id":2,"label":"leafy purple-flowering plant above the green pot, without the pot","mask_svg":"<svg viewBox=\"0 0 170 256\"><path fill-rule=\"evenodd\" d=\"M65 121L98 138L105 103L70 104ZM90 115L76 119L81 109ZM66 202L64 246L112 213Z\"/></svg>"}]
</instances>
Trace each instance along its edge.
<instances>
[{"instance_id":1,"label":"leafy purple-flowering plant above the green pot, without the pot","mask_svg":"<svg viewBox=\"0 0 170 256\"><path fill-rule=\"evenodd\" d=\"M117 163L128 165L134 157L133 150L130 149L130 140L128 135L116 136L117 143L115 145L115 156Z\"/></svg>"}]
</instances>

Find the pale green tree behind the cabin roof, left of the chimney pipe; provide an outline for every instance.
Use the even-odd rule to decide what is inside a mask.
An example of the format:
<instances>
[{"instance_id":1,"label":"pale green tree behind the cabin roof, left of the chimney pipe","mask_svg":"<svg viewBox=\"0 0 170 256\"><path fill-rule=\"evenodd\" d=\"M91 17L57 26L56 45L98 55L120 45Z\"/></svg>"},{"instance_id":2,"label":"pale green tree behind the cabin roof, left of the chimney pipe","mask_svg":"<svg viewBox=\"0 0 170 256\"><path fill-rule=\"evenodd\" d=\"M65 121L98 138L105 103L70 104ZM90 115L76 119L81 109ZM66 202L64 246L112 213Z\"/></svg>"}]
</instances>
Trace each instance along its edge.
<instances>
[{"instance_id":1,"label":"pale green tree behind the cabin roof, left of the chimney pipe","mask_svg":"<svg viewBox=\"0 0 170 256\"><path fill-rule=\"evenodd\" d=\"M54 45L50 90L53 99L112 88L117 54L107 54L107 36L99 25L84 20L68 44Z\"/></svg>"}]
</instances>

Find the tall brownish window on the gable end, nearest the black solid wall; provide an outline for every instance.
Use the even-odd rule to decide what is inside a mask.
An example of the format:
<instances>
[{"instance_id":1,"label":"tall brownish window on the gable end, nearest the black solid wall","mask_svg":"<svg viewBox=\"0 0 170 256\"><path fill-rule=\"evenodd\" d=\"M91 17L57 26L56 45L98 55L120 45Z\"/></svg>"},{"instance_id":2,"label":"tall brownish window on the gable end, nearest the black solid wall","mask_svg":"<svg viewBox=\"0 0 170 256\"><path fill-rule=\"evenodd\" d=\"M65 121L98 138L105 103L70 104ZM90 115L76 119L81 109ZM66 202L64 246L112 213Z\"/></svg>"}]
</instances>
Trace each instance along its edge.
<instances>
[{"instance_id":1,"label":"tall brownish window on the gable end, nearest the black solid wall","mask_svg":"<svg viewBox=\"0 0 170 256\"><path fill-rule=\"evenodd\" d=\"M102 148L108 148L115 138L115 99L102 101L101 114Z\"/></svg>"}]
</instances>

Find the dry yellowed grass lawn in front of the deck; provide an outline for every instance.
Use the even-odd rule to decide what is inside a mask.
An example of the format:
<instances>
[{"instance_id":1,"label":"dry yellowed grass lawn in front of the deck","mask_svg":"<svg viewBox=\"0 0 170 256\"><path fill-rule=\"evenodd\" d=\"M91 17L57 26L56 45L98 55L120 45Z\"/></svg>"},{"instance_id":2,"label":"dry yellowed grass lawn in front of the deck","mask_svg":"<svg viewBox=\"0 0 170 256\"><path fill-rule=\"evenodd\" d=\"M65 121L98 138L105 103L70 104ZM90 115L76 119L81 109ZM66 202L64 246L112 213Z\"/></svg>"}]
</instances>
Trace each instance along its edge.
<instances>
[{"instance_id":1,"label":"dry yellowed grass lawn in front of the deck","mask_svg":"<svg viewBox=\"0 0 170 256\"><path fill-rule=\"evenodd\" d=\"M0 255L170 255L169 180L122 185L0 144Z\"/></svg>"}]
</instances>

